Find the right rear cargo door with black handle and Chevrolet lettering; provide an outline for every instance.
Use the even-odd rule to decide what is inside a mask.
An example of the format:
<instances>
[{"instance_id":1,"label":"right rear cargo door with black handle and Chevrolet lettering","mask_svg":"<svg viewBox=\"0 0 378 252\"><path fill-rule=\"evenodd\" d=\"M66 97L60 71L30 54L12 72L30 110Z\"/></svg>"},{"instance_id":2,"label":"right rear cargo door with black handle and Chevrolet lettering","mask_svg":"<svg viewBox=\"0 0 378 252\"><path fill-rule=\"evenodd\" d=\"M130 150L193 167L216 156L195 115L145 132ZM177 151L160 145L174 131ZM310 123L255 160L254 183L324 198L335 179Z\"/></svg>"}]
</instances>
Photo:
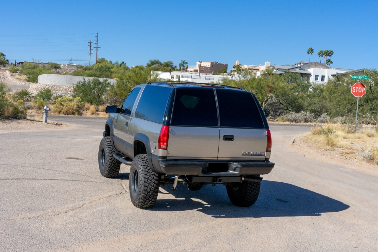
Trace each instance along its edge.
<instances>
[{"instance_id":1,"label":"right rear cargo door with black handle and Chevrolet lettering","mask_svg":"<svg viewBox=\"0 0 378 252\"><path fill-rule=\"evenodd\" d=\"M251 93L215 89L220 139L218 159L264 160L267 137L262 111Z\"/></svg>"}]
</instances>

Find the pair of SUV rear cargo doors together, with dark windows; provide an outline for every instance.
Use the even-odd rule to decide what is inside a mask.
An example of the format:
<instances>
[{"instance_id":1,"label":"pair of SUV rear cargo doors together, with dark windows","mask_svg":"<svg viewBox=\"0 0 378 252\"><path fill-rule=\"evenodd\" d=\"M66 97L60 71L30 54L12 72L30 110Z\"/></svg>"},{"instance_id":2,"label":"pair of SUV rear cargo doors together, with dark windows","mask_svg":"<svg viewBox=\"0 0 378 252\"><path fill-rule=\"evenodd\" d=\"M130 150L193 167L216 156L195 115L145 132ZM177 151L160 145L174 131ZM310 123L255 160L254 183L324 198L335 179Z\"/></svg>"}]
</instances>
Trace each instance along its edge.
<instances>
[{"instance_id":1,"label":"pair of SUV rear cargo doors together, with dark windows","mask_svg":"<svg viewBox=\"0 0 378 252\"><path fill-rule=\"evenodd\" d=\"M167 158L264 160L267 137L263 118L251 93L177 88Z\"/></svg>"}]
</instances>

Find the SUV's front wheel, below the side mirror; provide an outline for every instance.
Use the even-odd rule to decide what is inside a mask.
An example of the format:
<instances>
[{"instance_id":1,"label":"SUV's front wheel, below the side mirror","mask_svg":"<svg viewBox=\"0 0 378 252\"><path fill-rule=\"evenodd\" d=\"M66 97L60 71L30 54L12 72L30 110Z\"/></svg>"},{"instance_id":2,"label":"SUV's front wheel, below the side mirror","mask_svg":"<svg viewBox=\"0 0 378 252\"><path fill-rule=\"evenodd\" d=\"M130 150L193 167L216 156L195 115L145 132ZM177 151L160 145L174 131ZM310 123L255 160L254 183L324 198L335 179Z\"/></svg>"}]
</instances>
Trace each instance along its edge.
<instances>
[{"instance_id":1,"label":"SUV's front wheel, below the side mirror","mask_svg":"<svg viewBox=\"0 0 378 252\"><path fill-rule=\"evenodd\" d=\"M116 149L113 146L112 137L104 137L98 148L98 166L104 177L116 177L121 163L113 157Z\"/></svg>"}]
</instances>

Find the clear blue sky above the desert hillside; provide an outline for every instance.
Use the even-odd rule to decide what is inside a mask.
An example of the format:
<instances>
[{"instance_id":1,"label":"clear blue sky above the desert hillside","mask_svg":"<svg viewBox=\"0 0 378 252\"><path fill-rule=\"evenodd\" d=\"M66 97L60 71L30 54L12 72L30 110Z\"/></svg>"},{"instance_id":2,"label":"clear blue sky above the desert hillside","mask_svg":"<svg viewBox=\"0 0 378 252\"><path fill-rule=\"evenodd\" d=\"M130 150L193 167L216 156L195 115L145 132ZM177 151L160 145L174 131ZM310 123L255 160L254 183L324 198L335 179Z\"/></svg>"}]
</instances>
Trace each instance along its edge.
<instances>
[{"instance_id":1,"label":"clear blue sky above the desert hillside","mask_svg":"<svg viewBox=\"0 0 378 252\"><path fill-rule=\"evenodd\" d=\"M11 62L128 66L149 59L259 65L334 51L331 67L378 68L378 1L3 1L0 51ZM95 45L95 44L92 44ZM91 64L96 52L91 54Z\"/></svg>"}]
</instances>

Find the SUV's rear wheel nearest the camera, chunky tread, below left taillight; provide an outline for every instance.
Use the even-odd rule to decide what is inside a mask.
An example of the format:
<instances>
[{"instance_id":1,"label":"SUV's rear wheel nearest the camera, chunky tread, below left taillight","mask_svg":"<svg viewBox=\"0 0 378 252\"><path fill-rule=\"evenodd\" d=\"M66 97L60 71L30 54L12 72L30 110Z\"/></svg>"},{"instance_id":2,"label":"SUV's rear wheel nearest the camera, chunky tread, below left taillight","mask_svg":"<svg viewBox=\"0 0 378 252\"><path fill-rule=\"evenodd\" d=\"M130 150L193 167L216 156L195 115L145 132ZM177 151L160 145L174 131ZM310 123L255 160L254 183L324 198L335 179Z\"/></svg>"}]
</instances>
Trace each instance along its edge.
<instances>
[{"instance_id":1,"label":"SUV's rear wheel nearest the camera, chunky tread, below left taillight","mask_svg":"<svg viewBox=\"0 0 378 252\"><path fill-rule=\"evenodd\" d=\"M159 176L151 170L147 155L136 155L130 167L131 202L138 208L152 207L158 198Z\"/></svg>"}]
</instances>

